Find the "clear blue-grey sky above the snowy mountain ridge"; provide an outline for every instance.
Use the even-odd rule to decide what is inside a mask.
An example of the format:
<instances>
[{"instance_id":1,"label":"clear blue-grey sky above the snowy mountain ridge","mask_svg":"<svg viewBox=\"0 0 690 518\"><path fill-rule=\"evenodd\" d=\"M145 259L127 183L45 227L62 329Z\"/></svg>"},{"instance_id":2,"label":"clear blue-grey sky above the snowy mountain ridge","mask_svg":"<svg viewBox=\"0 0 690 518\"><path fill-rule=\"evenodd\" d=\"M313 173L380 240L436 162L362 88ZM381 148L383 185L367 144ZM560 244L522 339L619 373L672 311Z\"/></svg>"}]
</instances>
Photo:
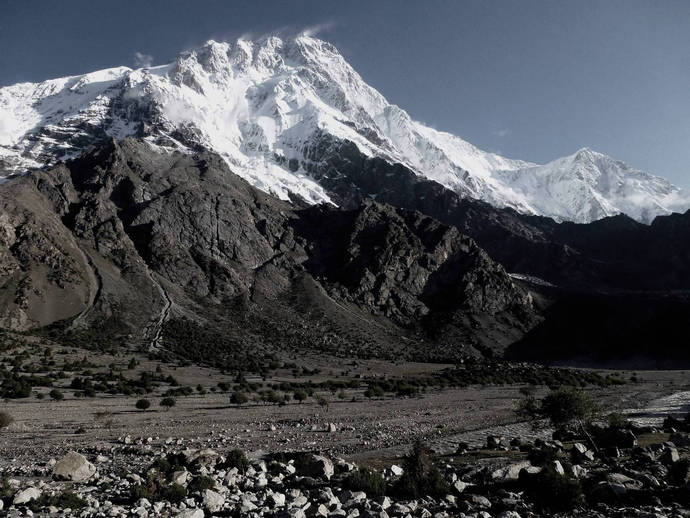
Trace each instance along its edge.
<instances>
[{"instance_id":1,"label":"clear blue-grey sky above the snowy mountain ridge","mask_svg":"<svg viewBox=\"0 0 690 518\"><path fill-rule=\"evenodd\" d=\"M0 86L308 27L483 149L543 163L587 146L690 187L686 0L0 0Z\"/></svg>"}]
</instances>

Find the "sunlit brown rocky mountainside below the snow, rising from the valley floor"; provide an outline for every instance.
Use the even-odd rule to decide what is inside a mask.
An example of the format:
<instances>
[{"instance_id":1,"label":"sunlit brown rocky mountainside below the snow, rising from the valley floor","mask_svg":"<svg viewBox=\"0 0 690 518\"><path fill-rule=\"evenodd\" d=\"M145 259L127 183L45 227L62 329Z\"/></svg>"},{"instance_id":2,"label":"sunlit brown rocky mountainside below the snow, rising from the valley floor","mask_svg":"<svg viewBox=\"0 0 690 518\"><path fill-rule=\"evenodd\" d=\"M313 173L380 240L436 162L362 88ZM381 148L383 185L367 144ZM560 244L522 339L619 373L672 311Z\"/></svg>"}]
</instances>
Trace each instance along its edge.
<instances>
[{"instance_id":1,"label":"sunlit brown rocky mountainside below the snow, rising from the valley floor","mask_svg":"<svg viewBox=\"0 0 690 518\"><path fill-rule=\"evenodd\" d=\"M228 347L453 358L537 321L456 228L372 201L296 209L211 153L113 141L6 182L0 204L3 327L107 320L159 346L191 321Z\"/></svg>"}]
</instances>

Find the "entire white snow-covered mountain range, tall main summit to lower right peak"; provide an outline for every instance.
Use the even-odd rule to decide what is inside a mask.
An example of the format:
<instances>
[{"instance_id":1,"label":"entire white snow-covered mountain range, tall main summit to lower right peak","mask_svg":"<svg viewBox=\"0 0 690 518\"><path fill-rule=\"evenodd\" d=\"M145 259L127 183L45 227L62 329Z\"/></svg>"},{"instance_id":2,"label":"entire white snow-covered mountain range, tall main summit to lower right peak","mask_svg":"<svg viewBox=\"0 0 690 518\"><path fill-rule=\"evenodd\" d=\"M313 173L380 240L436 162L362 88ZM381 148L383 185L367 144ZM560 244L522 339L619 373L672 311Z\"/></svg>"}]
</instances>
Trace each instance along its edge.
<instances>
[{"instance_id":1,"label":"entire white snow-covered mountain range, tall main summit to lower right peak","mask_svg":"<svg viewBox=\"0 0 690 518\"><path fill-rule=\"evenodd\" d=\"M5 174L132 135L163 148L212 149L256 187L309 203L332 201L305 167L324 136L463 196L558 219L626 212L648 221L686 199L668 182L611 159L594 160L597 172L573 157L537 166L477 149L412 120L332 45L308 36L209 41L167 65L0 89Z\"/></svg>"}]
</instances>

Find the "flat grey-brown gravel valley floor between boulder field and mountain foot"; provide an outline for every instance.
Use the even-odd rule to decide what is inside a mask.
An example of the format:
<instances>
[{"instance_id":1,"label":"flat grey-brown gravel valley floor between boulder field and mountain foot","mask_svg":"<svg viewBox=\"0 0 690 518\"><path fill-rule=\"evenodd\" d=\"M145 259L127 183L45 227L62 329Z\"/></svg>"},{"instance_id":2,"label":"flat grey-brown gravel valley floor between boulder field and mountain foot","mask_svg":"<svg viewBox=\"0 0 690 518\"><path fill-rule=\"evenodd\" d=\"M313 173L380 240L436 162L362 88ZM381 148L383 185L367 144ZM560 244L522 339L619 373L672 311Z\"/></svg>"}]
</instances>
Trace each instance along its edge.
<instances>
[{"instance_id":1,"label":"flat grey-brown gravel valley floor between boulder field and mountain foot","mask_svg":"<svg viewBox=\"0 0 690 518\"><path fill-rule=\"evenodd\" d=\"M76 351L77 355L82 351ZM131 356L131 355L130 355ZM130 356L99 356L103 365ZM143 356L132 371L151 371L159 365ZM296 381L314 382L329 379L324 373L336 373L342 359L305 359L310 368L318 367L319 374L293 378L277 372L274 378L248 381L262 383ZM380 361L356 362L350 377L362 375L423 374L447 365L391 364ZM423 438L435 450L452 453L457 443L477 446L489 434L506 437L543 436L545 431L532 430L519 423L513 409L522 397L520 386L472 386L445 390L430 389L419 397L364 397L360 389L347 391L346 399L324 392L328 408L308 398L303 403L291 401L286 405L267 405L249 402L241 407L231 405L229 393L208 389L231 378L220 372L197 366L175 367L162 365L163 374L170 372L183 386L201 384L206 394L194 393L176 398L176 406L165 410L159 406L167 386L146 396L98 394L92 398L76 398L65 388L65 399L52 401L48 397L6 400L2 410L15 419L9 428L0 432L0 469L23 458L37 456L48 460L70 449L96 448L107 451L113 444L129 436L163 443L172 438L190 447L239 447L248 453L276 451L321 451L357 462L395 459L403 455L416 438ZM623 379L634 376L636 381L612 387L589 387L600 404L608 410L625 410L637 415L645 423L654 419L654 400L690 389L688 371L625 371ZM65 381L67 386L69 379ZM47 388L36 388L48 393ZM542 387L540 392L548 389ZM137 410L135 402L146 397L151 409ZM663 402L663 401L662 401ZM677 402L676 402L677 403ZM651 405L651 410L645 409ZM670 408L661 405L662 408ZM676 405L680 411L680 406ZM687 411L687 410L686 410ZM639 415L638 415L639 414ZM661 414L658 414L661 415ZM657 416L658 417L658 416ZM335 431L327 431L329 424Z\"/></svg>"}]
</instances>

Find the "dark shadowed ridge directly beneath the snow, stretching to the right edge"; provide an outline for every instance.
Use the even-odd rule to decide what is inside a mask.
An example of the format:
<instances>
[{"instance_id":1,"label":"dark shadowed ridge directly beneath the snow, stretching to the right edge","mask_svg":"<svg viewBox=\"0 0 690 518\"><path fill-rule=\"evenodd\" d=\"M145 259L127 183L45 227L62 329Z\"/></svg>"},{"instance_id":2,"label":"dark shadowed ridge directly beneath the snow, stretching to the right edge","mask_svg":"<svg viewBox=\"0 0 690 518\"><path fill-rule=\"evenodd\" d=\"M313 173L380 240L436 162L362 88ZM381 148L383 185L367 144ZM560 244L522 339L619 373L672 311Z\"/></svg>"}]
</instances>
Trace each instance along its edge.
<instances>
[{"instance_id":1,"label":"dark shadowed ridge directly beneath the snow, stretching to the right edge","mask_svg":"<svg viewBox=\"0 0 690 518\"><path fill-rule=\"evenodd\" d=\"M627 216L557 223L462 198L401 164L366 157L356 146L321 139L307 170L336 203L362 200L416 210L472 237L511 273L576 291L690 289L690 212L644 225Z\"/></svg>"}]
</instances>

